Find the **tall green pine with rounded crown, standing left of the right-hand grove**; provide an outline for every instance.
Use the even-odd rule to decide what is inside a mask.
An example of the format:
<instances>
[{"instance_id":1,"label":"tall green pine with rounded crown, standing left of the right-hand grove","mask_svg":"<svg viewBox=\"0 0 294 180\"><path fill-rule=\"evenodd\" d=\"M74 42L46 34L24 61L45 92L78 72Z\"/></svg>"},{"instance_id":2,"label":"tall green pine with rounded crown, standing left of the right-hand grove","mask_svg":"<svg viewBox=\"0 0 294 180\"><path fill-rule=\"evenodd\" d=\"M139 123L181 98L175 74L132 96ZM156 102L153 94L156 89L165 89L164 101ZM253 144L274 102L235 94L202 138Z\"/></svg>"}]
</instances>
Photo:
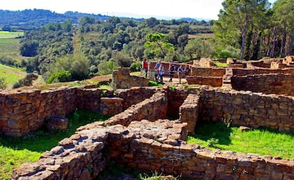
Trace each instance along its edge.
<instances>
[{"instance_id":1,"label":"tall green pine with rounded crown, standing left of the right-hand grove","mask_svg":"<svg viewBox=\"0 0 294 180\"><path fill-rule=\"evenodd\" d=\"M227 45L240 48L243 60L249 28L254 29L269 9L268 0L225 0L219 20L214 22L214 33Z\"/></svg>"}]
</instances>

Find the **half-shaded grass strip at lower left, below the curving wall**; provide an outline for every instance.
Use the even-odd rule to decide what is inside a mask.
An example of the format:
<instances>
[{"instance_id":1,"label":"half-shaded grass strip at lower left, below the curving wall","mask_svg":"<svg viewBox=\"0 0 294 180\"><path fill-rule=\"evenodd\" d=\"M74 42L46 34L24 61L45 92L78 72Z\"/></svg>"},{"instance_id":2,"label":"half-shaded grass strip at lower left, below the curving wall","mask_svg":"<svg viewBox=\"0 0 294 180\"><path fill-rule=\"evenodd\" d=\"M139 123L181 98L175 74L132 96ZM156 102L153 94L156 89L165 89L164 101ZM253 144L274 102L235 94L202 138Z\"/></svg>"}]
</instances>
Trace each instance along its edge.
<instances>
[{"instance_id":1,"label":"half-shaded grass strip at lower left, below the curving wall","mask_svg":"<svg viewBox=\"0 0 294 180\"><path fill-rule=\"evenodd\" d=\"M45 127L23 137L0 136L0 179L10 179L12 170L25 162L36 162L46 150L51 150L65 137L70 137L82 125L107 120L90 111L75 111L67 116L66 130L47 131Z\"/></svg>"}]
</instances>

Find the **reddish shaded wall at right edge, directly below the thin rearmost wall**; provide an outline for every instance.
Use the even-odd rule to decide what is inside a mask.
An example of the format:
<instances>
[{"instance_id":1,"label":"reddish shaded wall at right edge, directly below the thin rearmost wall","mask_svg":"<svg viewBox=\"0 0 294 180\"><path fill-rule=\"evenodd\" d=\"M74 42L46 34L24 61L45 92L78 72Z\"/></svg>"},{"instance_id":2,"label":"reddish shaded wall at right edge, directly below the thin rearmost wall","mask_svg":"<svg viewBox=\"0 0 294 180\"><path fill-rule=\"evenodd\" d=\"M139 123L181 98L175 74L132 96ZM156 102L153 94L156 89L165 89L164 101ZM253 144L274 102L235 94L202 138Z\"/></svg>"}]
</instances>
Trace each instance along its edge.
<instances>
[{"instance_id":1,"label":"reddish shaded wall at right edge, directly below the thin rearmost wall","mask_svg":"<svg viewBox=\"0 0 294 180\"><path fill-rule=\"evenodd\" d=\"M262 92L264 94L287 94L294 96L294 74L255 74L232 77L236 90Z\"/></svg>"}]
</instances>

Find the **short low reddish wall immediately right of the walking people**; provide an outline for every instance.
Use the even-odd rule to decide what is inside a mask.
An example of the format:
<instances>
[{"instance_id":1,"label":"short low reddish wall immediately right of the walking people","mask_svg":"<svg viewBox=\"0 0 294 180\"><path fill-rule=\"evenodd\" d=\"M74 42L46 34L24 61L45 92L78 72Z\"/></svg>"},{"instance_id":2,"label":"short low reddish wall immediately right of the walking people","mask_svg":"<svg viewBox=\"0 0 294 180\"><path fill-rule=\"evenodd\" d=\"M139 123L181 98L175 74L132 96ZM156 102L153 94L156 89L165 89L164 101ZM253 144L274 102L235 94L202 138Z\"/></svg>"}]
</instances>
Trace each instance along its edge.
<instances>
[{"instance_id":1,"label":"short low reddish wall immediately right of the walking people","mask_svg":"<svg viewBox=\"0 0 294 180\"><path fill-rule=\"evenodd\" d=\"M226 69L222 67L191 67L191 76L197 77L223 77Z\"/></svg>"}]
</instances>

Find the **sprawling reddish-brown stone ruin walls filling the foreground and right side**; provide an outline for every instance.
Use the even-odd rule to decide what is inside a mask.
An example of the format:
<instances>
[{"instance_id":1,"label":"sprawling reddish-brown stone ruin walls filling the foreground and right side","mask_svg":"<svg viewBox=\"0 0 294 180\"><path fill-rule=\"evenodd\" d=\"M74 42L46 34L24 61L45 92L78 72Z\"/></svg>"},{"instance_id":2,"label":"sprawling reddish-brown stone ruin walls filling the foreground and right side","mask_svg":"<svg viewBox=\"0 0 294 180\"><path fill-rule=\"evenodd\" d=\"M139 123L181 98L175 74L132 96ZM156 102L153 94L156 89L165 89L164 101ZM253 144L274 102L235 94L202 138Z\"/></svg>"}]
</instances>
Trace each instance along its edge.
<instances>
[{"instance_id":1,"label":"sprawling reddish-brown stone ruin walls filling the foreground and right side","mask_svg":"<svg viewBox=\"0 0 294 180\"><path fill-rule=\"evenodd\" d=\"M137 86L117 89L116 94L77 87L1 92L0 128L6 135L36 130L45 118L65 116L76 108L114 115L78 128L38 162L14 169L12 179L94 179L109 160L190 179L294 179L293 159L209 150L185 142L198 121L294 130L292 87L280 75L288 76L293 69L192 68L197 76L209 71L223 74L227 81L221 88ZM245 77L268 88L241 90ZM175 114L178 120L167 119Z\"/></svg>"}]
</instances>

